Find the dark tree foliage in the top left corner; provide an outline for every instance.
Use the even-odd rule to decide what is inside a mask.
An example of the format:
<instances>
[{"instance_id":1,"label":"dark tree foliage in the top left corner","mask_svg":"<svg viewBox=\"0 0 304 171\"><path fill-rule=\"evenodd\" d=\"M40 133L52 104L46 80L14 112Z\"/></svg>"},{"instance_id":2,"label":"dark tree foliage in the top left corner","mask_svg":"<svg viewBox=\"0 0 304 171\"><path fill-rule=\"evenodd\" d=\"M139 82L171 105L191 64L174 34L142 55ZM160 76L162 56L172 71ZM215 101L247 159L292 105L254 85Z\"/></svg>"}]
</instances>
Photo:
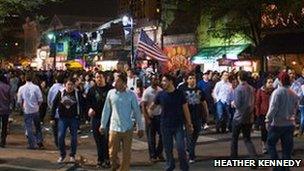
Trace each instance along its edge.
<instances>
[{"instance_id":1,"label":"dark tree foliage in the top left corner","mask_svg":"<svg viewBox=\"0 0 304 171\"><path fill-rule=\"evenodd\" d=\"M63 0L0 0L0 58L18 56L23 52L22 24L31 14L38 23L45 18L37 14L39 8Z\"/></svg>"}]
</instances>

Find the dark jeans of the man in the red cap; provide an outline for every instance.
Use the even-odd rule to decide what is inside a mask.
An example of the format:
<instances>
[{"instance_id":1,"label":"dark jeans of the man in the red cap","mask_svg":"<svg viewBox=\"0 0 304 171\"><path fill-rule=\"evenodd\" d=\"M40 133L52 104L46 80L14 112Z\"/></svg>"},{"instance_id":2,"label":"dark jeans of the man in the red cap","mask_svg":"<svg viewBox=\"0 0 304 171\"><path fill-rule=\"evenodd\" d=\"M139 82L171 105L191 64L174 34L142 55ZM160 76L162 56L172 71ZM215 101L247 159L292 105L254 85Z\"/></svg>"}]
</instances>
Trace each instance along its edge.
<instances>
[{"instance_id":1,"label":"dark jeans of the man in the red cap","mask_svg":"<svg viewBox=\"0 0 304 171\"><path fill-rule=\"evenodd\" d=\"M281 140L282 144L282 159L291 159L293 151L293 131L294 126L276 127L270 126L268 131L267 145L271 159L279 159L276 149L277 142ZM274 170L288 170L288 168L274 168Z\"/></svg>"}]
</instances>

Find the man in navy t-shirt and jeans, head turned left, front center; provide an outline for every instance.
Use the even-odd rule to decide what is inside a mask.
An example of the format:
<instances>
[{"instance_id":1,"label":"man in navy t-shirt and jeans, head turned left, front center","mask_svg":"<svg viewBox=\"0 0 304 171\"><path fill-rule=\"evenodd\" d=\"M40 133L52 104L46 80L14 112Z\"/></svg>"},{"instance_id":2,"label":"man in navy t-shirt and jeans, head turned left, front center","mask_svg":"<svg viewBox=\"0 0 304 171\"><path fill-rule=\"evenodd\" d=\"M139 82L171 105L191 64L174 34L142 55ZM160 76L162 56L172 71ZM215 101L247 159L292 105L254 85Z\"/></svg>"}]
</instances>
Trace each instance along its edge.
<instances>
[{"instance_id":1,"label":"man in navy t-shirt and jeans, head turned left, front center","mask_svg":"<svg viewBox=\"0 0 304 171\"><path fill-rule=\"evenodd\" d=\"M156 96L154 104L152 104L150 110L154 110L156 105L160 105L162 107L160 124L166 153L165 170L173 171L175 168L173 157L173 138L175 138L180 169L188 171L189 165L186 156L186 147L184 142L185 133L183 126L186 126L189 133L192 133L193 127L185 95L182 91L175 89L173 82L173 76L163 76L162 88L164 91L161 91Z\"/></svg>"}]
</instances>

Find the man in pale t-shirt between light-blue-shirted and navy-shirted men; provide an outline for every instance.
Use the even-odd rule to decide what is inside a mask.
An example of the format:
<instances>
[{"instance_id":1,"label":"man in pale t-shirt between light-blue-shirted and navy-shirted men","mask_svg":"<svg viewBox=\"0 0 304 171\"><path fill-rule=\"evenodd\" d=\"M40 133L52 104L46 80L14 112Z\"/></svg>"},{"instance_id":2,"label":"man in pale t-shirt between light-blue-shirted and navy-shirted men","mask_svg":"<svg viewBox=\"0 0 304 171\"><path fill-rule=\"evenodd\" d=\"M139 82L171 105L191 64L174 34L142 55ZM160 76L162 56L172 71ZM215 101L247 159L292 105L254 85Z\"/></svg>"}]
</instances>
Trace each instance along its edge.
<instances>
[{"instance_id":1,"label":"man in pale t-shirt between light-blue-shirted and navy-shirted men","mask_svg":"<svg viewBox=\"0 0 304 171\"><path fill-rule=\"evenodd\" d=\"M151 75L151 86L143 93L142 112L146 121L146 133L149 146L150 161L155 162L157 159L163 160L163 143L160 131L160 115L161 107L157 106L153 111L148 110L155 101L156 95L162 91L158 86L159 80L157 76ZM156 144L156 134L158 134L158 144Z\"/></svg>"}]
</instances>

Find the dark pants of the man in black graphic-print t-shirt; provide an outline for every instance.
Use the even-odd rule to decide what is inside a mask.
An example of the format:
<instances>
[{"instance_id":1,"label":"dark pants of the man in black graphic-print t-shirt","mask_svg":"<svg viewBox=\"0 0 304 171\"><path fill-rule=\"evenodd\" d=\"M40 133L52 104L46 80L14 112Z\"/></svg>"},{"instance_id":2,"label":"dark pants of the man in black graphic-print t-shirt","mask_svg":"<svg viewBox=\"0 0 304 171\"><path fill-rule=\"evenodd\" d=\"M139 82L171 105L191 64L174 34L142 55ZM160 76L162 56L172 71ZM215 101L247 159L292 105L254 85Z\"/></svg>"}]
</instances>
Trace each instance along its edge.
<instances>
[{"instance_id":1,"label":"dark pants of the man in black graphic-print t-shirt","mask_svg":"<svg viewBox=\"0 0 304 171\"><path fill-rule=\"evenodd\" d=\"M202 125L200 124L202 122L200 122L200 120L199 120L199 122L192 121L192 123L193 123L193 133L192 134L187 133L187 149L189 152L190 160L194 160L196 158L195 146L196 146L197 139L198 139L199 134L202 129Z\"/></svg>"}]
</instances>

